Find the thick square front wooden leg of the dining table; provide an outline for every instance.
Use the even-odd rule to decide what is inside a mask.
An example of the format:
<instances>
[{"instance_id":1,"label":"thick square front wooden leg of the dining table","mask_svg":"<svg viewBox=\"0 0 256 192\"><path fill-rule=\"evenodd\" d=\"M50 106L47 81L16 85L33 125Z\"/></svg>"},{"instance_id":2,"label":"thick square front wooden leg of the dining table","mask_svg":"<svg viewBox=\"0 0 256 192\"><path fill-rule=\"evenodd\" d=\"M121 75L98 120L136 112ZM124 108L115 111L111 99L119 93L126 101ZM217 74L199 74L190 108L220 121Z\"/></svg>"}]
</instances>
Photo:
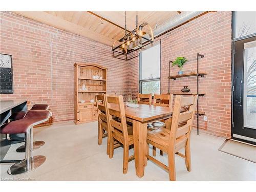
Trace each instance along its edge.
<instances>
[{"instance_id":1,"label":"thick square front wooden leg of the dining table","mask_svg":"<svg viewBox=\"0 0 256 192\"><path fill-rule=\"evenodd\" d=\"M133 139L136 175L144 176L144 164L146 155L147 123L133 120Z\"/></svg>"}]
</instances>

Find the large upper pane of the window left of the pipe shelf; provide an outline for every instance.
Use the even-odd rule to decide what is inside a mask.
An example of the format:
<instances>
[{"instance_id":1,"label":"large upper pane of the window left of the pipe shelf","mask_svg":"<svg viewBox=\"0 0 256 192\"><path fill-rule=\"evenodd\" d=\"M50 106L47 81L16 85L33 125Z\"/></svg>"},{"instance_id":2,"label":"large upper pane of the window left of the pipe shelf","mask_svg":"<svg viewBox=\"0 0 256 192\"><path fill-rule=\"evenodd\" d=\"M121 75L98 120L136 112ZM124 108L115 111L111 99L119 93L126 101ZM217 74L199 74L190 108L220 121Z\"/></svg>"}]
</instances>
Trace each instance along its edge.
<instances>
[{"instance_id":1,"label":"large upper pane of the window left of the pipe shelf","mask_svg":"<svg viewBox=\"0 0 256 192\"><path fill-rule=\"evenodd\" d=\"M140 65L140 79L160 77L160 44L141 52Z\"/></svg>"}]
</instances>

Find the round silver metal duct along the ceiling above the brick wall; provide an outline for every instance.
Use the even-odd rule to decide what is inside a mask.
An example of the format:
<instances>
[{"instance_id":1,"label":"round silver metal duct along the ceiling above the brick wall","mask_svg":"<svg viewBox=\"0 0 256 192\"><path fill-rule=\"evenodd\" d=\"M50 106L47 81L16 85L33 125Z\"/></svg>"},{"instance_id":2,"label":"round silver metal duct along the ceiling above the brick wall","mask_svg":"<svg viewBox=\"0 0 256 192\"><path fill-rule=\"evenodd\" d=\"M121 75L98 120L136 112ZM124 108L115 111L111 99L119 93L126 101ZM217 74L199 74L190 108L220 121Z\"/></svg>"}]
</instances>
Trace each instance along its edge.
<instances>
[{"instance_id":1,"label":"round silver metal duct along the ceiling above the brick wall","mask_svg":"<svg viewBox=\"0 0 256 192\"><path fill-rule=\"evenodd\" d=\"M199 15L201 15L202 13L204 13L205 11L184 11L181 12L181 14L176 15L173 18L168 19L165 23L163 23L162 25L158 26L157 28L153 29L153 34L154 37L157 37L163 33L165 33L166 31L173 29L185 22L187 22L188 20L197 17ZM151 36L150 34L145 34L143 37L150 39ZM134 41L130 44L129 47L127 47L127 49L131 50L134 47L137 47L139 45L142 45L144 42L146 42L145 39L140 38L137 41Z\"/></svg>"}]
</instances>

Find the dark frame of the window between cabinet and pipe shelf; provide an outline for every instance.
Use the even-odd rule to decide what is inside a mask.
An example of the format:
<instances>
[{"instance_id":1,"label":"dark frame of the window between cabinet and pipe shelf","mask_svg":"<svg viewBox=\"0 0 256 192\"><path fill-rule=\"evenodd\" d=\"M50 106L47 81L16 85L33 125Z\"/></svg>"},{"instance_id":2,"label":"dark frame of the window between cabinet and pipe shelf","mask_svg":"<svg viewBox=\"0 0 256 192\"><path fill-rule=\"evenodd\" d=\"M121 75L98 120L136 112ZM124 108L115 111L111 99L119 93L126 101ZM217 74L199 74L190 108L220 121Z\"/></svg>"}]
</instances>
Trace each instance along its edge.
<instances>
[{"instance_id":1,"label":"dark frame of the window between cabinet and pipe shelf","mask_svg":"<svg viewBox=\"0 0 256 192\"><path fill-rule=\"evenodd\" d=\"M141 65L142 65L142 51L139 52L139 93L142 92L142 82L151 82L159 80L159 94L161 94L161 40L158 40L156 42L153 42L150 46L146 46L145 49L150 49L152 47L155 47L157 45L160 45L160 74L158 78L152 78L152 79L140 79L141 78ZM152 93L153 94L153 93ZM154 94L152 95L154 97Z\"/></svg>"}]
</instances>

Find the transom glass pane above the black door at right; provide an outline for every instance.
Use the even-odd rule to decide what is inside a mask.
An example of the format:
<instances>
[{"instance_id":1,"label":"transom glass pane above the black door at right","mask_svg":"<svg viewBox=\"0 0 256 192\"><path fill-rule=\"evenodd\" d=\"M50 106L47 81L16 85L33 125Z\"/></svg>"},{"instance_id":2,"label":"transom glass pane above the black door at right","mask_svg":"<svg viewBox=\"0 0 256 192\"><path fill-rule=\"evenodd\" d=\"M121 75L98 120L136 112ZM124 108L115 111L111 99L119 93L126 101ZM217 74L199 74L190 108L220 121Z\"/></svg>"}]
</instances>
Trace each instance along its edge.
<instances>
[{"instance_id":1,"label":"transom glass pane above the black door at right","mask_svg":"<svg viewBox=\"0 0 256 192\"><path fill-rule=\"evenodd\" d=\"M237 11L236 15L236 38L256 33L256 11Z\"/></svg>"}]
</instances>

